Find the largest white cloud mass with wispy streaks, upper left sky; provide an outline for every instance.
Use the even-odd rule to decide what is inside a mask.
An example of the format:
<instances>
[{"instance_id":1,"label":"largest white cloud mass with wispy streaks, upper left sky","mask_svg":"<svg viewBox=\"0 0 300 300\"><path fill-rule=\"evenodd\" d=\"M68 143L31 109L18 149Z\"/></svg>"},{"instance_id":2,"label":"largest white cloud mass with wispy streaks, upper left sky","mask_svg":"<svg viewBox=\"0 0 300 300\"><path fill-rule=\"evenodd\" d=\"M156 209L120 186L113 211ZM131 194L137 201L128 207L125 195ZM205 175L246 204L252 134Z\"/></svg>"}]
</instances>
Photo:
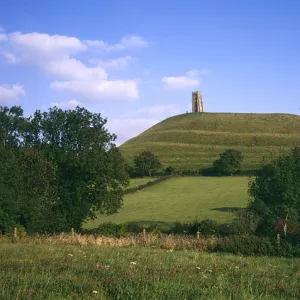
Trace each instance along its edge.
<instances>
[{"instance_id":1,"label":"largest white cloud mass with wispy streaks, upper left sky","mask_svg":"<svg viewBox=\"0 0 300 300\"><path fill-rule=\"evenodd\" d=\"M148 43L138 36L125 36L120 43L108 45L103 41L82 42L64 35L14 32L8 34L5 50L9 51L4 51L3 55L9 63L24 62L37 66L54 78L52 88L72 92L86 100L138 99L137 80L109 81L105 70L125 67L132 58L99 60L96 67L90 67L74 56L88 52L91 45L114 51L145 47Z\"/></svg>"}]
</instances>

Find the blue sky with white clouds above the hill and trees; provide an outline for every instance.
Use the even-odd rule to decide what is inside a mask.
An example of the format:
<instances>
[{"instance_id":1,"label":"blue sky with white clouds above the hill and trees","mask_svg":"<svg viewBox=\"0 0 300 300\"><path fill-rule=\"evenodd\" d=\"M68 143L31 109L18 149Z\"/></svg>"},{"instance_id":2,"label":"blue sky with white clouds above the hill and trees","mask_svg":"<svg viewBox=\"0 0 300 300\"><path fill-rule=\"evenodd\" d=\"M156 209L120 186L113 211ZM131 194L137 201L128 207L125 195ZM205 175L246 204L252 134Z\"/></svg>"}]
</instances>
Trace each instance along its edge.
<instances>
[{"instance_id":1,"label":"blue sky with white clouds above the hill and trees","mask_svg":"<svg viewBox=\"0 0 300 300\"><path fill-rule=\"evenodd\" d=\"M0 106L77 105L122 144L191 111L300 113L298 0L0 0Z\"/></svg>"}]
</instances>

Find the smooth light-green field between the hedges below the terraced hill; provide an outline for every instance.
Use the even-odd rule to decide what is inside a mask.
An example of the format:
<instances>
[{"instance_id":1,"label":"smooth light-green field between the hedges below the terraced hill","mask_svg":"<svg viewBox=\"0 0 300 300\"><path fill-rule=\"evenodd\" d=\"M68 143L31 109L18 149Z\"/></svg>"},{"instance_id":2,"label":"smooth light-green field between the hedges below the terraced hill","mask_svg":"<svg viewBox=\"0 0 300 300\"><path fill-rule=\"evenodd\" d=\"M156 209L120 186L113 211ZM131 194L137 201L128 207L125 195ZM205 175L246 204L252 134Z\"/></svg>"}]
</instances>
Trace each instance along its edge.
<instances>
[{"instance_id":1,"label":"smooth light-green field between the hedges below the terraced hill","mask_svg":"<svg viewBox=\"0 0 300 300\"><path fill-rule=\"evenodd\" d=\"M231 221L234 212L248 199L247 177L174 178L124 197L124 206L112 216L98 216L85 224L97 227L102 222L138 221L169 226L174 221L211 218Z\"/></svg>"}]
</instances>

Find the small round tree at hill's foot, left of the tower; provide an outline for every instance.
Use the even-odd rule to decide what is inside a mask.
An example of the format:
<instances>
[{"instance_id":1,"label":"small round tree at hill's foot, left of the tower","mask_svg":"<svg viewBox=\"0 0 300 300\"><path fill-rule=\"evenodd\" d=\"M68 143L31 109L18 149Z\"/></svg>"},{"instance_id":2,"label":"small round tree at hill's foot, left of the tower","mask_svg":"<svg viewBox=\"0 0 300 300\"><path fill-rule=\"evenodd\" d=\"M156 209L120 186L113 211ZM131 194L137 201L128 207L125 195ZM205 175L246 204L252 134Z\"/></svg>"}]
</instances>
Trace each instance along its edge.
<instances>
[{"instance_id":1,"label":"small round tree at hill's foot, left of the tower","mask_svg":"<svg viewBox=\"0 0 300 300\"><path fill-rule=\"evenodd\" d=\"M153 171L162 167L159 158L150 151L143 151L135 156L134 164L141 176L151 176Z\"/></svg>"}]
</instances>

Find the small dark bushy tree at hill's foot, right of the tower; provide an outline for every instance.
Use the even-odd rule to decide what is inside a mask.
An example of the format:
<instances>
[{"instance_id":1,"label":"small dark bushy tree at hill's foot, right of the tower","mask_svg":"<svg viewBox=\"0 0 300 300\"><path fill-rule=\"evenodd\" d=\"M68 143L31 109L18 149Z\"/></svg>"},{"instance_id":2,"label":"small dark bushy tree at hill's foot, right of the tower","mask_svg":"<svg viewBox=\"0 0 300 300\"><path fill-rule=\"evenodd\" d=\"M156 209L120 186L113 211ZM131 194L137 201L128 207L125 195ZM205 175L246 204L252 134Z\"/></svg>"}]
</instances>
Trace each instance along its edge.
<instances>
[{"instance_id":1,"label":"small dark bushy tree at hill's foot, right of the tower","mask_svg":"<svg viewBox=\"0 0 300 300\"><path fill-rule=\"evenodd\" d=\"M220 158L214 161L215 172L219 175L232 175L240 171L243 155L240 151L228 149L220 154Z\"/></svg>"}]
</instances>

